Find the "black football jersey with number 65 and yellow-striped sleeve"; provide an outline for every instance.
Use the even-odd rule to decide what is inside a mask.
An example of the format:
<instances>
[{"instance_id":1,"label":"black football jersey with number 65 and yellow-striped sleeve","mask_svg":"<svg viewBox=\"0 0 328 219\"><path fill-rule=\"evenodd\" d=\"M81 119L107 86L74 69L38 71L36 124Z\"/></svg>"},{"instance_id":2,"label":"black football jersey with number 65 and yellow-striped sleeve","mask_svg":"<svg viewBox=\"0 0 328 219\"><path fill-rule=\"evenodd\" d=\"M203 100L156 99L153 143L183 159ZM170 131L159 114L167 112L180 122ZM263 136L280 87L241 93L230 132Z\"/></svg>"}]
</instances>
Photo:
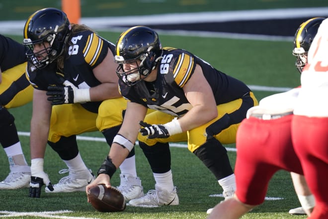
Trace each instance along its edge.
<instances>
[{"instance_id":1,"label":"black football jersey with number 65 and yellow-striped sleeve","mask_svg":"<svg viewBox=\"0 0 328 219\"><path fill-rule=\"evenodd\" d=\"M141 81L128 86L119 80L122 96L148 108L182 116L192 107L182 87L193 74L196 64L202 68L217 105L236 100L250 92L242 81L216 70L185 50L165 47L162 57L154 82Z\"/></svg>"}]
</instances>

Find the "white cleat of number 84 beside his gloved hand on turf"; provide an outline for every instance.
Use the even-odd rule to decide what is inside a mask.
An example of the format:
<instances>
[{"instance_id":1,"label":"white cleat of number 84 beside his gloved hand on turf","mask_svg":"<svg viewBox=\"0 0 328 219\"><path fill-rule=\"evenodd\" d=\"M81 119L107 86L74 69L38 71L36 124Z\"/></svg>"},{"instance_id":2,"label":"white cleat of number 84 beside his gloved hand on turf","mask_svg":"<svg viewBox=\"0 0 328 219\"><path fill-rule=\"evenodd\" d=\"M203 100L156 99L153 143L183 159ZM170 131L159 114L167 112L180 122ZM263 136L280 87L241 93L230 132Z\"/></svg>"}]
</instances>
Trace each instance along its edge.
<instances>
[{"instance_id":1,"label":"white cleat of number 84 beside his gloved hand on turf","mask_svg":"<svg viewBox=\"0 0 328 219\"><path fill-rule=\"evenodd\" d=\"M59 173L67 172L67 169L59 171ZM85 192L85 187L93 182L95 179L91 170L82 171L69 171L69 175L61 178L55 185L54 191L50 191L46 187L46 192L57 193L57 192Z\"/></svg>"}]
</instances>

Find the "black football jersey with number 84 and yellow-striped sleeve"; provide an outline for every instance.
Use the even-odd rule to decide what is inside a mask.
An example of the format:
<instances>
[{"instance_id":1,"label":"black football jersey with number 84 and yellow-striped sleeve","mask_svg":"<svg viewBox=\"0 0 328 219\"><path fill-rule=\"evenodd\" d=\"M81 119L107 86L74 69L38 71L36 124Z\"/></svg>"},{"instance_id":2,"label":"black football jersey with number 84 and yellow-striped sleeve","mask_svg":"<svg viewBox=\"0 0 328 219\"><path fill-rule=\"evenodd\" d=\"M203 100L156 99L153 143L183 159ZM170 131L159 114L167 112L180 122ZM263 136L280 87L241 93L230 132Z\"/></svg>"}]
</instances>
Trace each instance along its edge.
<instances>
[{"instance_id":1,"label":"black football jersey with number 84 and yellow-striped sleeve","mask_svg":"<svg viewBox=\"0 0 328 219\"><path fill-rule=\"evenodd\" d=\"M108 48L114 54L115 45L92 31L75 33L69 40L72 45L65 54L62 72L57 69L56 62L41 70L28 64L27 74L32 86L36 89L47 90L48 86L63 86L65 80L69 80L81 89L94 87L101 83L92 71L107 56ZM97 113L100 103L101 101L86 102L82 103L82 106Z\"/></svg>"}]
</instances>

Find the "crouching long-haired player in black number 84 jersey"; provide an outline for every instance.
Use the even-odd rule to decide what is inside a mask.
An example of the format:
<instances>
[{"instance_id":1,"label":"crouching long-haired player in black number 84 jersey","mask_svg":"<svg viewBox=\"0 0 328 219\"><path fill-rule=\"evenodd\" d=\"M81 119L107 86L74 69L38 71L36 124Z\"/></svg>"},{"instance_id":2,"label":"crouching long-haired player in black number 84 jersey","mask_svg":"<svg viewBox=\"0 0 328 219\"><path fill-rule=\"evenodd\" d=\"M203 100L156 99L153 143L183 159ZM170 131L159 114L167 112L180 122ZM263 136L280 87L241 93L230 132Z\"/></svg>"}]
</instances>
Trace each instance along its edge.
<instances>
[{"instance_id":1,"label":"crouching long-haired player in black number 84 jersey","mask_svg":"<svg viewBox=\"0 0 328 219\"><path fill-rule=\"evenodd\" d=\"M46 192L85 191L94 176L82 160L76 135L99 130L111 145L126 108L118 91L115 46L85 25L71 25L56 8L38 10L27 19L23 44L29 47L27 76L34 87L29 195L40 197L44 184ZM43 169L47 142L69 169L55 185ZM134 151L120 169L119 189L126 199L143 196Z\"/></svg>"}]
</instances>

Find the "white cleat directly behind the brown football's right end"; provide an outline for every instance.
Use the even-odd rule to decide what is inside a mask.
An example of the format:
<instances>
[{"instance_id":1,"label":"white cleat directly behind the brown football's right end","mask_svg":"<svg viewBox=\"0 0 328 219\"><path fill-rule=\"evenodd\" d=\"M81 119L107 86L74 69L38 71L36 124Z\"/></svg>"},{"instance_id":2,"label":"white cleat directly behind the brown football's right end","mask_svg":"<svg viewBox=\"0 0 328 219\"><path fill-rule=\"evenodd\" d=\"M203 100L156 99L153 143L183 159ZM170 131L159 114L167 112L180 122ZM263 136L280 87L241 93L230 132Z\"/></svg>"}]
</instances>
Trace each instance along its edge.
<instances>
[{"instance_id":1,"label":"white cleat directly behind the brown football's right end","mask_svg":"<svg viewBox=\"0 0 328 219\"><path fill-rule=\"evenodd\" d=\"M125 202L144 196L144 188L139 177L134 177L130 174L120 174L120 179L121 183L117 189L123 194Z\"/></svg>"}]
</instances>

